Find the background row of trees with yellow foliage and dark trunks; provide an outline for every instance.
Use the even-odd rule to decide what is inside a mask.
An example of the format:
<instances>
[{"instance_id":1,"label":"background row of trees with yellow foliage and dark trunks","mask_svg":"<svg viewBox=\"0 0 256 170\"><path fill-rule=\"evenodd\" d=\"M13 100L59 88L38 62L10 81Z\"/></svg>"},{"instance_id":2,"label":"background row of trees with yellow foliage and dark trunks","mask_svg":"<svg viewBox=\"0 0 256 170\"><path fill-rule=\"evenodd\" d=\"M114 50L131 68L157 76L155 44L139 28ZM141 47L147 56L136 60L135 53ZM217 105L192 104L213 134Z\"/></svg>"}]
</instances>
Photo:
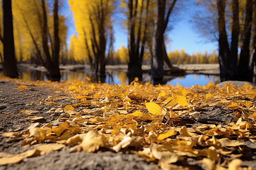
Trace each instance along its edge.
<instances>
[{"instance_id":1,"label":"background row of trees with yellow foliage and dark trunks","mask_svg":"<svg viewBox=\"0 0 256 170\"><path fill-rule=\"evenodd\" d=\"M183 49L166 50L168 32L175 27L177 14L185 10L185 1L68 0L76 28L71 39L67 35L72 23L64 0L9 2L6 6L7 1L2 0L0 11L0 62L7 76L18 76L13 66L16 62L42 65L53 80L60 78L60 64L86 63L100 74L105 74L106 65L128 64L127 76L132 81L142 79L142 64L150 64L153 79L162 80L164 68L172 68L172 64L220 63L221 80L255 81L255 0L195 2L199 11L191 23L201 36L217 41L219 49L192 55ZM116 13L122 13L120 24L127 29L127 48L113 47ZM10 24L13 31L7 27ZM11 32L14 49L8 50L5 46L10 46Z\"/></svg>"}]
</instances>

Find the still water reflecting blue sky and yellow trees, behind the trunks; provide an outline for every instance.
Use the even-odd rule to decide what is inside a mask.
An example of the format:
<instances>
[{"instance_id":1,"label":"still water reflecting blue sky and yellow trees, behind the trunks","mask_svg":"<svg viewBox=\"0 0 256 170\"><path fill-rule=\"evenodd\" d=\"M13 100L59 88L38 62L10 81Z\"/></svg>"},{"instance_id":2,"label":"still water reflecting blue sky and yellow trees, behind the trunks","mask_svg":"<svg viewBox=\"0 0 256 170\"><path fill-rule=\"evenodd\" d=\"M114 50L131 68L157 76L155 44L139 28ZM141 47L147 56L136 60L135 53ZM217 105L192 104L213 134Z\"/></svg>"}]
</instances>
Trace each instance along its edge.
<instances>
[{"instance_id":1,"label":"still water reflecting blue sky and yellow trees, behind the trunks","mask_svg":"<svg viewBox=\"0 0 256 170\"><path fill-rule=\"evenodd\" d=\"M19 73L20 79L24 81L34 81L34 80L47 80L46 72L43 71L22 71ZM104 76L97 74L91 74L90 72L71 72L71 71L62 71L61 80L75 80L79 79L81 81L86 81L86 76L91 78L93 83L95 82L105 82L109 84L121 84L122 82L128 83L129 80L126 76L125 71L108 71ZM150 75L143 75L144 82L151 81ZM191 87L200 85L204 86L207 83L216 82L220 80L219 76L216 75L201 75L201 74L188 74L182 77L177 77L171 80L168 80L167 84L173 84L176 86L177 82L183 87ZM152 82L152 81L151 81Z\"/></svg>"}]
</instances>

